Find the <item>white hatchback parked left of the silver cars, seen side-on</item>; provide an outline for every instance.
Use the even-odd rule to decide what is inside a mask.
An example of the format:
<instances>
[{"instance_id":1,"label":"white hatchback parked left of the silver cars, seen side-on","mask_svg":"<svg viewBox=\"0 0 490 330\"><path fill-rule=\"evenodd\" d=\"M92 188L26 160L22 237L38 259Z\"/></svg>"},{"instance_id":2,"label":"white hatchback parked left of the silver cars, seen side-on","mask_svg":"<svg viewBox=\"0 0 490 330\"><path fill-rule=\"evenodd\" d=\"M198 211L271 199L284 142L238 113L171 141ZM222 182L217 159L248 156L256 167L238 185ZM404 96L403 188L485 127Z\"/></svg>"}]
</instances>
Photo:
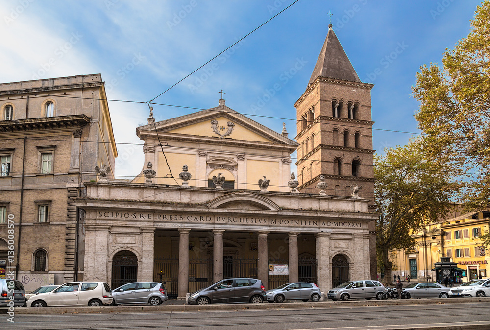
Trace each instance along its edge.
<instances>
[{"instance_id":1,"label":"white hatchback parked left of the silver cars, seen side-on","mask_svg":"<svg viewBox=\"0 0 490 330\"><path fill-rule=\"evenodd\" d=\"M112 303L109 284L104 282L70 282L58 286L51 292L37 294L27 300L27 307L46 306L92 306Z\"/></svg>"}]
</instances>

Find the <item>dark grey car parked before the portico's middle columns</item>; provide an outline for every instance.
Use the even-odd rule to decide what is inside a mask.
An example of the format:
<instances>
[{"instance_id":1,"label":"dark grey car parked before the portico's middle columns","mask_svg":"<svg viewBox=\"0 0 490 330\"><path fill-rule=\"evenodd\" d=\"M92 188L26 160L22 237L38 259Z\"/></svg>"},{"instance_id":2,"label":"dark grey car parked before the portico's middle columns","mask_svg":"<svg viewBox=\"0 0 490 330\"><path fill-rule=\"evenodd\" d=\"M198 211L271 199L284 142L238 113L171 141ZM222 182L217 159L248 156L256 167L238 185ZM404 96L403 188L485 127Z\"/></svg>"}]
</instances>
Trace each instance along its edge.
<instances>
[{"instance_id":1,"label":"dark grey car parked before the portico's middle columns","mask_svg":"<svg viewBox=\"0 0 490 330\"><path fill-rule=\"evenodd\" d=\"M187 304L254 303L267 299L262 282L257 279L226 279L192 293Z\"/></svg>"}]
</instances>

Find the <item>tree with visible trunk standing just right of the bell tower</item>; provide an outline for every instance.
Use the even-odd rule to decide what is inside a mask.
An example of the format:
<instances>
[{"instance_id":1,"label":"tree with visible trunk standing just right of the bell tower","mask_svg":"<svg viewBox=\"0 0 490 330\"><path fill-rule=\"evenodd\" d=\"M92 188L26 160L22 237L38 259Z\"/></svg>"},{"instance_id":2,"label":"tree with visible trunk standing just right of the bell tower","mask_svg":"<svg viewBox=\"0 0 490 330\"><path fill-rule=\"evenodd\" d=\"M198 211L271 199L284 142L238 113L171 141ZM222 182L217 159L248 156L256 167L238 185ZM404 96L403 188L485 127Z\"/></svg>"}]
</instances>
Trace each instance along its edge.
<instances>
[{"instance_id":1,"label":"tree with visible trunk standing just right of the bell tower","mask_svg":"<svg viewBox=\"0 0 490 330\"><path fill-rule=\"evenodd\" d=\"M441 219L449 210L449 197L458 189L452 172L428 159L422 139L407 146L385 149L374 157L376 248L384 266L384 283L392 285L392 250L410 250L413 230Z\"/></svg>"}]
</instances>

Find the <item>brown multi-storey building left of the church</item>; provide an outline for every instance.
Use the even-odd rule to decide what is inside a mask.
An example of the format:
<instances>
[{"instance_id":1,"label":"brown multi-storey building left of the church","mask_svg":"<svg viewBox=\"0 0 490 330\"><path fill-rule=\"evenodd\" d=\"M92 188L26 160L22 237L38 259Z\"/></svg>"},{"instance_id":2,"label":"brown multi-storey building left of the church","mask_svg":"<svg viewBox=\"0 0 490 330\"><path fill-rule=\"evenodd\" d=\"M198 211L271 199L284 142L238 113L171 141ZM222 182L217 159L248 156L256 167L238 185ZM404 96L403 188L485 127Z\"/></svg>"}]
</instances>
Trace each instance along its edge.
<instances>
[{"instance_id":1,"label":"brown multi-storey building left of the church","mask_svg":"<svg viewBox=\"0 0 490 330\"><path fill-rule=\"evenodd\" d=\"M106 98L100 74L0 84L0 261L16 266L26 290L83 278L83 217L73 198L98 180L96 165L114 169Z\"/></svg>"}]
</instances>

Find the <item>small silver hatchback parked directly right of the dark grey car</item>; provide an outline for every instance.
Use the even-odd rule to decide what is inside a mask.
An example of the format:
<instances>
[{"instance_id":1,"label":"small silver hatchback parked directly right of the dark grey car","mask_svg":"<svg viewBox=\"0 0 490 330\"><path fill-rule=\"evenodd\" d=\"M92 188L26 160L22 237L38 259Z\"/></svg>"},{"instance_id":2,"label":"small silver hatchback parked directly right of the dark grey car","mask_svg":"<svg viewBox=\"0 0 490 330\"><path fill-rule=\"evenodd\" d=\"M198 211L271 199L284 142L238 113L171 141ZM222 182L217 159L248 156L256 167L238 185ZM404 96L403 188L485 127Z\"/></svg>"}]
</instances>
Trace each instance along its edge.
<instances>
[{"instance_id":1,"label":"small silver hatchback parked directly right of the dark grey car","mask_svg":"<svg viewBox=\"0 0 490 330\"><path fill-rule=\"evenodd\" d=\"M317 284L296 282L286 283L266 293L268 302L282 303L285 300L319 301L321 291Z\"/></svg>"}]
</instances>

